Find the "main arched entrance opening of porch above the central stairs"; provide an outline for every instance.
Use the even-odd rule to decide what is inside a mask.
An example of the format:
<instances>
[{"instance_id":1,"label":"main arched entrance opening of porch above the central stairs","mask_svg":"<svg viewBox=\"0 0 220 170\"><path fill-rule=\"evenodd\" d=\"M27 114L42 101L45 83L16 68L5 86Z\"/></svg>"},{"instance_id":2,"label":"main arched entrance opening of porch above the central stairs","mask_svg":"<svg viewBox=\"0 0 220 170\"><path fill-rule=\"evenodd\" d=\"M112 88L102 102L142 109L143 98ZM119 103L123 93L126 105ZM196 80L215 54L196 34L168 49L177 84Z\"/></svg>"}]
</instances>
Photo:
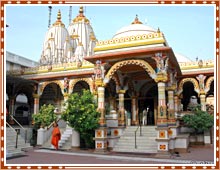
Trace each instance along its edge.
<instances>
[{"instance_id":1,"label":"main arched entrance opening of porch above the central stairs","mask_svg":"<svg viewBox=\"0 0 220 170\"><path fill-rule=\"evenodd\" d=\"M158 88L152 75L155 75L154 69L144 60L121 61L108 71L106 79L112 79L116 84L116 111L125 115L120 120L124 124L128 119L131 125L143 123L142 113L146 109L149 112L145 117L146 125L147 121L149 125L155 125Z\"/></svg>"}]
</instances>

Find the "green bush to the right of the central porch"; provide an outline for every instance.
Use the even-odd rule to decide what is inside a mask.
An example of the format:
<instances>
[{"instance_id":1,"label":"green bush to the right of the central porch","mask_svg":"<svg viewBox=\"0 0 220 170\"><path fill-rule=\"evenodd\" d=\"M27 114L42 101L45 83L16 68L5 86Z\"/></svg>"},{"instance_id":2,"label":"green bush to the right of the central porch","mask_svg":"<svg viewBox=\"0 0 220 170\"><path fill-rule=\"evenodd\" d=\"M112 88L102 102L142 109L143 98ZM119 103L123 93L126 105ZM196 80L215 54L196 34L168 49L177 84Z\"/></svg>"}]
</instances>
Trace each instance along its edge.
<instances>
[{"instance_id":1,"label":"green bush to the right of the central porch","mask_svg":"<svg viewBox=\"0 0 220 170\"><path fill-rule=\"evenodd\" d=\"M202 133L214 125L214 117L206 111L201 110L201 106L192 108L193 114L183 116L186 126L193 128L195 133Z\"/></svg>"}]
</instances>

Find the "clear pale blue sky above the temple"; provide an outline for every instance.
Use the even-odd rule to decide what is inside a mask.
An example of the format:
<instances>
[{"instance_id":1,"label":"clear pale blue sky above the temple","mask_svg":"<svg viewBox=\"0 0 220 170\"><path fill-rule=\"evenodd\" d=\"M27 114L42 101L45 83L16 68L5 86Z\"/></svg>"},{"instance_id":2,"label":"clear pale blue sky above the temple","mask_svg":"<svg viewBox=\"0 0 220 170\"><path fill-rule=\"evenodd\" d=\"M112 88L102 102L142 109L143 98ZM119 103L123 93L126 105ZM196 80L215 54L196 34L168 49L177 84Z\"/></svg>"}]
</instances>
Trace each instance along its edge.
<instances>
[{"instance_id":1,"label":"clear pale blue sky above the temple","mask_svg":"<svg viewBox=\"0 0 220 170\"><path fill-rule=\"evenodd\" d=\"M69 5L52 5L51 24L61 10L62 21L69 25ZM79 6L72 6L72 19ZM136 15L155 29L160 28L175 53L191 60L215 58L215 7L213 5L88 5L84 15L98 40L111 39L122 27L130 25ZM72 20L71 19L71 20ZM39 61L48 30L48 5L5 6L6 51Z\"/></svg>"}]
</instances>

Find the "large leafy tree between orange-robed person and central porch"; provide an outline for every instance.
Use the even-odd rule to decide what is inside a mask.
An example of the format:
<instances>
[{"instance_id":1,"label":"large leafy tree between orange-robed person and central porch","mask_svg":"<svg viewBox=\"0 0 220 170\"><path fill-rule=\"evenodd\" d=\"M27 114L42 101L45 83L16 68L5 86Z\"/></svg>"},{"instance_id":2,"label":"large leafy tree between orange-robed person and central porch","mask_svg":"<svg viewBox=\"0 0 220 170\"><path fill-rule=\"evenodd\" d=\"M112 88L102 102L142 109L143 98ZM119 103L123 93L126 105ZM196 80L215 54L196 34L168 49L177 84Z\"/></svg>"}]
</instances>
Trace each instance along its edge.
<instances>
[{"instance_id":1,"label":"large leafy tree between orange-robed person and central porch","mask_svg":"<svg viewBox=\"0 0 220 170\"><path fill-rule=\"evenodd\" d=\"M80 133L86 147L93 148L93 137L95 129L99 127L100 113L92 93L89 90L83 90L81 94L73 93L65 105L62 119L68 121L69 125Z\"/></svg>"}]
</instances>

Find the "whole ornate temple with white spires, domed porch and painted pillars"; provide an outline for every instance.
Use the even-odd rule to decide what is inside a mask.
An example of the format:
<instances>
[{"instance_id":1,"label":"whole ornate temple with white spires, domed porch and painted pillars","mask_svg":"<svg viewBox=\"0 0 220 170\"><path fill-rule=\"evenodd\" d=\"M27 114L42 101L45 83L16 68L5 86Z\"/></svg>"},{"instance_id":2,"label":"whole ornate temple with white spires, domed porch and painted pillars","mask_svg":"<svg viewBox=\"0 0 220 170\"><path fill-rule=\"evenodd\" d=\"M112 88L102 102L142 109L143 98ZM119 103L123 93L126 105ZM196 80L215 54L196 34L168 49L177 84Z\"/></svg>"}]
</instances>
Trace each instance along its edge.
<instances>
[{"instance_id":1,"label":"whole ornate temple with white spires, domed porch and painted pillars","mask_svg":"<svg viewBox=\"0 0 220 170\"><path fill-rule=\"evenodd\" d=\"M12 82L14 76L22 81ZM39 66L8 70L6 87L8 110L14 116L19 94L26 95L30 113L37 114L43 104L62 112L69 94L89 89L101 112L94 136L97 152L184 152L191 139L181 116L192 104L204 111L214 105L214 59L192 61L175 54L162 30L143 24L138 16L111 39L98 41L80 7L68 27L58 11L46 33ZM124 147L128 130L134 144L139 125L144 134L151 131L146 140L153 140L145 142L151 145ZM203 142L211 144L212 134Z\"/></svg>"}]
</instances>

